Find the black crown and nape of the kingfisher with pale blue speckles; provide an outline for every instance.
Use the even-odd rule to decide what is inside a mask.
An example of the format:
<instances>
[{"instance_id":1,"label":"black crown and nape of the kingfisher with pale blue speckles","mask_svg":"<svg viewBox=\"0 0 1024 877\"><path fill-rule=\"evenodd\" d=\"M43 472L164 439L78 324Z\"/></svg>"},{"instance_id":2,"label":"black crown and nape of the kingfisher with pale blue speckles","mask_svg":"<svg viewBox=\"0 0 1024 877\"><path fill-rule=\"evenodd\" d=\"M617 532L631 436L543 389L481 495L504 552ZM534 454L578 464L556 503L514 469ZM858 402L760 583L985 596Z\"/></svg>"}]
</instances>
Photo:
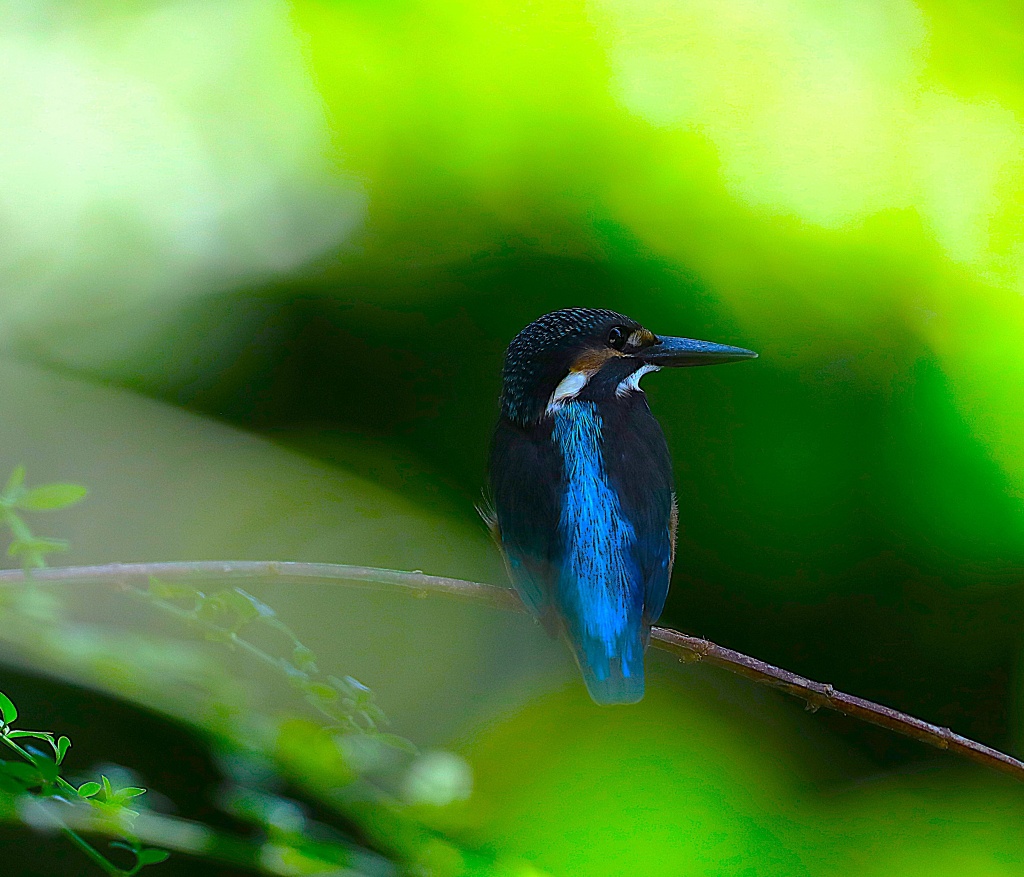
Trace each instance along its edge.
<instances>
[{"instance_id":1,"label":"black crown and nape of the kingfisher with pale blue speckles","mask_svg":"<svg viewBox=\"0 0 1024 877\"><path fill-rule=\"evenodd\" d=\"M613 326L640 328L600 307L566 307L530 323L505 351L502 413L520 424L536 420L579 352L604 343Z\"/></svg>"}]
</instances>

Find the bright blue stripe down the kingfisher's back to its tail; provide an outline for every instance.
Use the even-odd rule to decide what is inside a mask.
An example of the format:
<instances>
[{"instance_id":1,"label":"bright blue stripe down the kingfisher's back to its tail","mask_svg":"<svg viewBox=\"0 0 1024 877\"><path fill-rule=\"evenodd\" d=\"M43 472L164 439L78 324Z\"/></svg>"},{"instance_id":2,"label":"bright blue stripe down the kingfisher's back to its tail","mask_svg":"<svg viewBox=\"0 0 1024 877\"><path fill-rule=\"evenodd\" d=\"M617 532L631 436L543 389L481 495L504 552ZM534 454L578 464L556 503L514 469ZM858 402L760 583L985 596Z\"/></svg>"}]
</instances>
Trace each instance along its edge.
<instances>
[{"instance_id":1,"label":"bright blue stripe down the kingfisher's back to its tail","mask_svg":"<svg viewBox=\"0 0 1024 877\"><path fill-rule=\"evenodd\" d=\"M571 402L554 421L564 469L558 610L594 700L633 703L644 690L645 581L636 532L608 483L597 406Z\"/></svg>"}]
</instances>

